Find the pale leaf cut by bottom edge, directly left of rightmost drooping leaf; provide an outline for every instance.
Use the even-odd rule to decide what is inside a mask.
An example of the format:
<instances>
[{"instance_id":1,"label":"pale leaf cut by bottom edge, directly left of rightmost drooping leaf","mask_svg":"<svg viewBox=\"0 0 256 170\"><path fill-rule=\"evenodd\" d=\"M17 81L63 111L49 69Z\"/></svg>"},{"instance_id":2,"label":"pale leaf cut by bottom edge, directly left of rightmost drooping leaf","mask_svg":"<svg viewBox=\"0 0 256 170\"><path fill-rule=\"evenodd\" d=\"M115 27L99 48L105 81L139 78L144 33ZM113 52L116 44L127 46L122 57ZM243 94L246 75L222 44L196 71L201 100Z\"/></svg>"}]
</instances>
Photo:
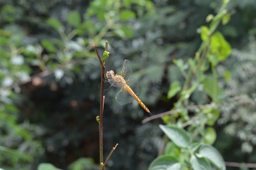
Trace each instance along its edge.
<instances>
[{"instance_id":1,"label":"pale leaf cut by bottom edge, directly left of rightmost drooping leaf","mask_svg":"<svg viewBox=\"0 0 256 170\"><path fill-rule=\"evenodd\" d=\"M195 155L192 155L190 158L190 164L193 170L210 170L210 164L205 158L198 158Z\"/></svg>"}]
</instances>

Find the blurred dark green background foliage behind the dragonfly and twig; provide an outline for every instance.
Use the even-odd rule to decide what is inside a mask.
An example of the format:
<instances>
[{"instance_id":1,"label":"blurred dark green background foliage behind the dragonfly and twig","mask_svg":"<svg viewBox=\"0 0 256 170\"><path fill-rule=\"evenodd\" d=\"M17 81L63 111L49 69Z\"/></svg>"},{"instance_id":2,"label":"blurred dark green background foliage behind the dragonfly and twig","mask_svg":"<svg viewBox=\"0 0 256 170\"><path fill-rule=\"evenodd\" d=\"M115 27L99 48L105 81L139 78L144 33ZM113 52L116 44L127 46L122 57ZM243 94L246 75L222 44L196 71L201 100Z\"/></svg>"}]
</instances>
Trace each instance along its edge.
<instances>
[{"instance_id":1,"label":"blurred dark green background foliage behind the dragonfly and twig","mask_svg":"<svg viewBox=\"0 0 256 170\"><path fill-rule=\"evenodd\" d=\"M66 169L75 160L74 167L83 166L86 161L80 157L91 157L98 163L95 117L99 114L100 64L92 45L103 47L106 39L111 53L106 70L118 73L124 59L129 59L140 84L138 96L153 115L175 107L181 110L179 124L190 120L191 112L184 109L184 104L222 101L217 109L196 109L193 113L210 117L191 119L196 129L186 130L202 132L202 140L212 144L215 129L214 145L224 160L255 162L254 1L229 3L230 15L222 16L223 25L212 41L215 49L228 49L227 41L236 49L228 59L228 50L209 49L207 58L212 65L204 68L208 74L204 86L197 84L195 94L174 106L176 94L186 82L186 71L196 65L194 54L204 39L203 33L209 31L206 21L212 21L221 2L1 1L0 167L36 169L40 162L50 162ZM211 75L212 66L218 78ZM219 86L221 93L218 89L211 93L210 85ZM117 142L121 147L107 166L146 169L161 148L158 124L162 121L140 125L147 117L144 110L136 102L118 106L114 98L117 91L111 88L106 92L104 154ZM200 126L206 122L213 126L219 115L214 129Z\"/></svg>"}]
</instances>

